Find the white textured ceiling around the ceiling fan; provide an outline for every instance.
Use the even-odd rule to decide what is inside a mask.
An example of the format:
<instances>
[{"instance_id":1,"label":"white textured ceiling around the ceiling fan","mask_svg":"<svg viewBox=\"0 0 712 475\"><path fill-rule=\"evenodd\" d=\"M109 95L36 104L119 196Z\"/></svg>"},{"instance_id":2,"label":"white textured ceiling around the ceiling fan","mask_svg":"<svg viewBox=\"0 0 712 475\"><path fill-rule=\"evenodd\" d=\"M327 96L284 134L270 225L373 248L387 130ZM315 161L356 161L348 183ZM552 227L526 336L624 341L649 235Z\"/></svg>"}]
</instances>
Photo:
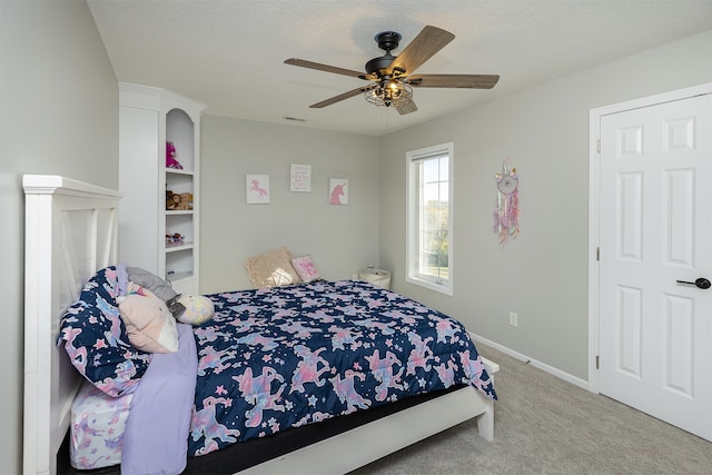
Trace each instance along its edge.
<instances>
[{"instance_id":1,"label":"white textured ceiling around the ceiling fan","mask_svg":"<svg viewBox=\"0 0 712 475\"><path fill-rule=\"evenodd\" d=\"M210 115L373 136L712 29L712 0L88 3L120 81L169 89L204 102ZM417 72L495 73L498 85L416 89L418 111L407 116L360 96L309 109L365 82L283 62L301 58L363 71L383 55L376 33L398 31L403 49L426 24L453 32L455 40Z\"/></svg>"}]
</instances>

